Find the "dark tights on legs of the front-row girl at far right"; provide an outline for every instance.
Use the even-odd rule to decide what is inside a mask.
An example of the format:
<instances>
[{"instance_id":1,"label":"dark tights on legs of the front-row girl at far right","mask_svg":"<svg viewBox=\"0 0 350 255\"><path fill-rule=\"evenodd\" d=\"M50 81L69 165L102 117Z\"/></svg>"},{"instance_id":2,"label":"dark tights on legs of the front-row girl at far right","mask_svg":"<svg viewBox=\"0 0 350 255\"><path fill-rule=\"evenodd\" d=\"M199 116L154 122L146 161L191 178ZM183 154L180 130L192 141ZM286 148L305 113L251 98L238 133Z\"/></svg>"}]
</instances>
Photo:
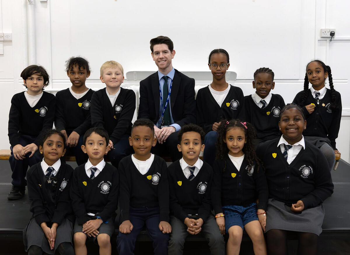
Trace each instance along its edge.
<instances>
[{"instance_id":1,"label":"dark tights on legs of the front-row girl at far right","mask_svg":"<svg viewBox=\"0 0 350 255\"><path fill-rule=\"evenodd\" d=\"M318 236L313 233L297 232L298 255L316 255ZM287 231L271 229L266 233L267 254L287 255Z\"/></svg>"}]
</instances>

